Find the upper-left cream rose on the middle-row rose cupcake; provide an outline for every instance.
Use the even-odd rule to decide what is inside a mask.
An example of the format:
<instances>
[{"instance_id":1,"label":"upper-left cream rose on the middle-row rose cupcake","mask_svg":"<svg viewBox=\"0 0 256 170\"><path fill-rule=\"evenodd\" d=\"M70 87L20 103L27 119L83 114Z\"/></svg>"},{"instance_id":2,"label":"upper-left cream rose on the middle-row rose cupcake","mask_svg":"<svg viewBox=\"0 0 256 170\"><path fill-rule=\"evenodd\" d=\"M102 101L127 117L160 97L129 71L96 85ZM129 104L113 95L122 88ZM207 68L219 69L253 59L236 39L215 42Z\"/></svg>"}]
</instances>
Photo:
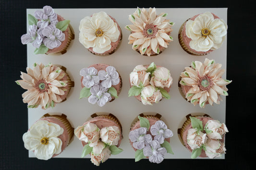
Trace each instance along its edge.
<instances>
[{"instance_id":1,"label":"upper-left cream rose on the middle-row rose cupcake","mask_svg":"<svg viewBox=\"0 0 256 170\"><path fill-rule=\"evenodd\" d=\"M146 68L143 65L138 65L130 73L130 83L132 86L145 87L149 85L150 72L146 72Z\"/></svg>"}]
</instances>

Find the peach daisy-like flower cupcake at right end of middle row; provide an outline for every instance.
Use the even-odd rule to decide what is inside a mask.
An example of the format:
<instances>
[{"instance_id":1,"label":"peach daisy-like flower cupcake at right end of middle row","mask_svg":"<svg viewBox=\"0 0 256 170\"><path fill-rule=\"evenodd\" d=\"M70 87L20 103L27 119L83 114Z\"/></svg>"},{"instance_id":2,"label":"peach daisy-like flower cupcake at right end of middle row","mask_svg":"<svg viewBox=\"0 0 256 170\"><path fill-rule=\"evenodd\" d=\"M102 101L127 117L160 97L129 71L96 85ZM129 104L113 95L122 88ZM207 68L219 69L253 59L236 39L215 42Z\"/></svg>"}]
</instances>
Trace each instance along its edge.
<instances>
[{"instance_id":1,"label":"peach daisy-like flower cupcake at right end of middle row","mask_svg":"<svg viewBox=\"0 0 256 170\"><path fill-rule=\"evenodd\" d=\"M179 80L179 89L183 97L194 105L204 108L206 104L219 104L220 95L227 96L226 85L232 81L222 79L225 69L214 60L205 59L204 63L193 61L191 67L185 67Z\"/></svg>"}]
</instances>

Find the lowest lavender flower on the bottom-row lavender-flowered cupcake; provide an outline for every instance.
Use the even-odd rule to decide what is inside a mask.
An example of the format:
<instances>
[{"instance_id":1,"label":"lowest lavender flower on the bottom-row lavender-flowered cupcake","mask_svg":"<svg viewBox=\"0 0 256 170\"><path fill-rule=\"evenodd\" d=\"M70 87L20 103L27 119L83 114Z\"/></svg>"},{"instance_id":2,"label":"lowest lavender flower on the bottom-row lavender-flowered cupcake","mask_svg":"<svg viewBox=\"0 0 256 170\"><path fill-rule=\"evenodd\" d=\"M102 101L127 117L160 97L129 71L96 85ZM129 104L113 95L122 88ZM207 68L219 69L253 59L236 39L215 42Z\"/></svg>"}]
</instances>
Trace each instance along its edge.
<instances>
[{"instance_id":1,"label":"lowest lavender flower on the bottom-row lavender-flowered cupcake","mask_svg":"<svg viewBox=\"0 0 256 170\"><path fill-rule=\"evenodd\" d=\"M152 140L150 146L148 145L143 149L144 156L148 157L148 160L153 163L162 162L166 153L166 148L161 147L157 140Z\"/></svg>"}]
</instances>

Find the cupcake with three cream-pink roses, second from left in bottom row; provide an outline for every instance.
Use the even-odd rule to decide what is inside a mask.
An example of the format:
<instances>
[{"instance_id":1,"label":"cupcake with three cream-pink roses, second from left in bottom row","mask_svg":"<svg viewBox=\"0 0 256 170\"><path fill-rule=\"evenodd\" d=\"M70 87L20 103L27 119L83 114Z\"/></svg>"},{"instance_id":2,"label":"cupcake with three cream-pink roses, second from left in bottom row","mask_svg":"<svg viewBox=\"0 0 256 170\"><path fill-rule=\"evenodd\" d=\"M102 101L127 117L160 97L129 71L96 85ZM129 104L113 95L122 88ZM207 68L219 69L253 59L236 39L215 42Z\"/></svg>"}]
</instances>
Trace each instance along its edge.
<instances>
[{"instance_id":1,"label":"cupcake with three cream-pink roses, second from left in bottom row","mask_svg":"<svg viewBox=\"0 0 256 170\"><path fill-rule=\"evenodd\" d=\"M99 115L98 115L99 114ZM75 136L84 146L82 158L90 154L91 162L99 166L112 155L122 152L119 148L122 140L122 126L111 113L94 113L91 119L74 130Z\"/></svg>"}]
</instances>

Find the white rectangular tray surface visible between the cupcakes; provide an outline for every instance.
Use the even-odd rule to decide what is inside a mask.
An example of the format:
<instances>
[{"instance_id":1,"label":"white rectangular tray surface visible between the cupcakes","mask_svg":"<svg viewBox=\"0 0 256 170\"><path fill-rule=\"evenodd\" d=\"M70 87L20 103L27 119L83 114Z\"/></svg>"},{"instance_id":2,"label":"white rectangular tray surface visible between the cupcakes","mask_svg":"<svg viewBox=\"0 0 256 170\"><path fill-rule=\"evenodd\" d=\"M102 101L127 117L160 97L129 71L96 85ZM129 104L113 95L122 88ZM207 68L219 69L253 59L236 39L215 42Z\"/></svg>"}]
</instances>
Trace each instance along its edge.
<instances>
[{"instance_id":1,"label":"white rectangular tray surface visible between the cupcakes","mask_svg":"<svg viewBox=\"0 0 256 170\"><path fill-rule=\"evenodd\" d=\"M27 14L34 15L37 9L27 9ZM42 9L38 9L42 10ZM184 67L190 66L192 61L198 60L203 62L205 58L214 59L217 63L222 64L222 68L226 69L227 59L227 41L225 40L223 45L216 51L203 57L196 57L189 55L183 51L178 41L178 31L181 25L189 18L196 14L211 11L219 18L222 18L227 23L227 8L157 8L157 14L161 12L168 13L167 19L175 23L173 25L173 31L171 36L173 42L170 43L161 54L155 57L143 57L139 53L132 49L132 46L128 44L128 36L130 31L124 29L124 27L131 22L128 20L128 16L133 14L136 9L54 9L56 13L64 17L66 20L70 20L70 24L73 27L75 39L72 41L67 49L67 53L64 55L34 55L35 48L31 45L27 45L27 66L33 68L33 64L43 63L47 65L49 62L53 64L59 64L67 68L67 72L71 79L75 82L74 88L70 91L68 98L65 102L58 103L54 108L43 110L40 107L36 109L28 109L28 127L36 122L45 113L59 112L67 115L74 128L78 125L82 125L86 119L93 113L97 112L109 112L114 114L122 124L122 143L120 148L123 149L118 155L112 155L110 158L117 159L134 159L135 151L132 149L128 134L130 131L130 125L134 118L143 112L157 112L163 116L166 120L166 124L173 132L171 137L171 147L174 155L166 154L166 159L190 159L191 153L182 145L179 140L177 129L181 127L184 122L184 118L188 113L207 113L212 118L225 122L225 109L226 98L223 97L223 101L220 104L214 104L214 106L207 105L202 109L198 105L185 101L178 90L178 79L183 72ZM119 23L122 29L122 43L117 51L106 57L99 57L91 54L85 47L79 42L79 24L80 20L85 16L90 16L93 13L105 11L110 16L114 17ZM28 27L27 23L27 27ZM159 66L163 66L171 70L171 76L173 83L171 85L171 99L163 99L153 106L143 105L137 101L134 97L128 97L129 74L133 68L137 65L146 65L154 62ZM103 107L99 107L97 104L90 104L87 99L79 99L81 91L81 76L79 71L82 68L86 68L92 64L105 63L114 66L120 75L122 76L122 91L119 98L113 102L107 103ZM223 75L226 78L226 73ZM81 158L83 146L81 142L74 137L73 142L56 158ZM29 157L35 157L33 152L29 151ZM87 155L85 158L89 158ZM199 158L201 159L201 158ZM222 156L219 159L224 159Z\"/></svg>"}]
</instances>

